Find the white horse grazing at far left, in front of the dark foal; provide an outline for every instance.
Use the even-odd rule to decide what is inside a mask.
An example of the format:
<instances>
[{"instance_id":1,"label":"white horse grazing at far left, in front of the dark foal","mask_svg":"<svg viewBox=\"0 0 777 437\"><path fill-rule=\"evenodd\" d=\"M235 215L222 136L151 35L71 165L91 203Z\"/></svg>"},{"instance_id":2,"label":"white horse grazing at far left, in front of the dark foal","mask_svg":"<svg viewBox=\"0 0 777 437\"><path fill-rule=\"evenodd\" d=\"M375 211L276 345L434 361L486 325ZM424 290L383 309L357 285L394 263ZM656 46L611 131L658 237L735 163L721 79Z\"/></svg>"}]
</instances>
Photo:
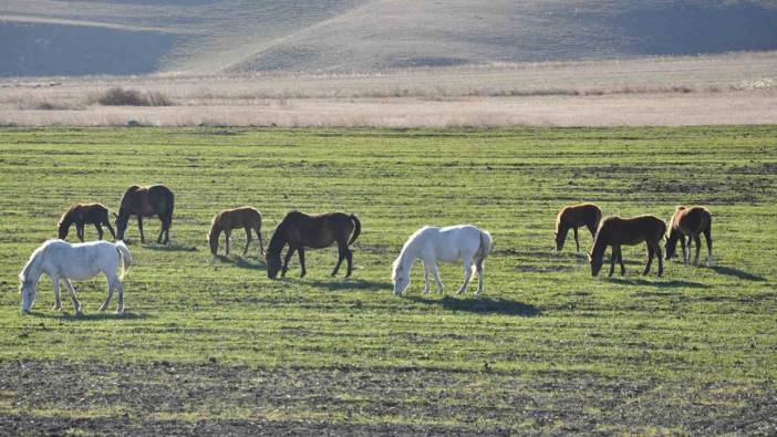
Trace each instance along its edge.
<instances>
[{"instance_id":1,"label":"white horse grazing at far left, in front of the dark foal","mask_svg":"<svg viewBox=\"0 0 777 437\"><path fill-rule=\"evenodd\" d=\"M73 309L81 312L81 302L75 295L75 290L70 280L84 280L93 278L101 272L108 282L107 298L100 306L105 311L113 296L113 290L118 291L118 306L116 314L124 311L124 274L132 266L132 256L124 242L92 241L71 244L63 240L49 240L41 244L19 273L19 294L22 298L22 312L30 312L38 294L38 281L43 273L51 278L54 284L54 311L62 308L60 301L60 281L64 282L73 300ZM118 274L116 273L118 271Z\"/></svg>"}]
</instances>

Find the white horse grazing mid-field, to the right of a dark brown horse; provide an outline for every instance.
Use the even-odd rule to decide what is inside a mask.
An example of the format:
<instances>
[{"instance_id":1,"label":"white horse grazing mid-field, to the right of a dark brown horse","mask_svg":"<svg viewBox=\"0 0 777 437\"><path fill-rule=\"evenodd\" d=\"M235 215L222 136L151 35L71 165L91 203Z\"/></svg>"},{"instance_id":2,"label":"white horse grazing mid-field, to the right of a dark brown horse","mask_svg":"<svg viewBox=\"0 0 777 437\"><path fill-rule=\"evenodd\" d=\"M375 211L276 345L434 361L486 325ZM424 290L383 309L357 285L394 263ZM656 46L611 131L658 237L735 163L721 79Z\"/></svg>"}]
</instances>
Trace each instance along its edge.
<instances>
[{"instance_id":1,"label":"white horse grazing mid-field, to the right of a dark brown horse","mask_svg":"<svg viewBox=\"0 0 777 437\"><path fill-rule=\"evenodd\" d=\"M421 258L424 263L424 293L429 292L429 270L437 281L437 292L443 293L443 281L439 280L437 261L464 261L464 284L458 290L463 293L472 280L473 263L477 271L477 291L483 292L483 263L491 252L494 240L491 235L472 225L449 226L437 228L425 226L413 233L402 247L400 256L394 260L392 281L394 294L402 293L410 285L410 273L413 262Z\"/></svg>"}]
</instances>

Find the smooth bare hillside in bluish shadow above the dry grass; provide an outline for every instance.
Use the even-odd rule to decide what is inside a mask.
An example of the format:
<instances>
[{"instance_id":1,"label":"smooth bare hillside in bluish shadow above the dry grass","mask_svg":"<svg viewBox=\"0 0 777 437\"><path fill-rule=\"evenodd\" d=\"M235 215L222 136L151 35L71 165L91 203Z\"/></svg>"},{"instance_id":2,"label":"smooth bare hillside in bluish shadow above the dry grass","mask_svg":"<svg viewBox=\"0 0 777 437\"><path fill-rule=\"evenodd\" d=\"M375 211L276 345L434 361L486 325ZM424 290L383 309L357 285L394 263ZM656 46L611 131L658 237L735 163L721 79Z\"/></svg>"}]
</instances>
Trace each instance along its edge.
<instances>
[{"instance_id":1,"label":"smooth bare hillside in bluish shadow above the dry grass","mask_svg":"<svg viewBox=\"0 0 777 437\"><path fill-rule=\"evenodd\" d=\"M6 0L0 75L374 72L777 49L774 1Z\"/></svg>"}]
</instances>

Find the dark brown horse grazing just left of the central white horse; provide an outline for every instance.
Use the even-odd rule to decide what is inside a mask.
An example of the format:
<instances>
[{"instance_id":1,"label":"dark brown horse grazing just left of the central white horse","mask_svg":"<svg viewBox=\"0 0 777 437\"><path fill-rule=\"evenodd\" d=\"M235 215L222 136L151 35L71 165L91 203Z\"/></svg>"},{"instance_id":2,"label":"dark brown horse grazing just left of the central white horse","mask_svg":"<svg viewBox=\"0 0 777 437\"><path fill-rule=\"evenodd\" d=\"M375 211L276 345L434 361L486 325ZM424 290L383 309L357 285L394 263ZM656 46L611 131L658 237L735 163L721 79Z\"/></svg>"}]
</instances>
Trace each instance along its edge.
<instances>
[{"instance_id":1,"label":"dark brown horse grazing just left of the central white horse","mask_svg":"<svg viewBox=\"0 0 777 437\"><path fill-rule=\"evenodd\" d=\"M362 223L354 215L329 212L309 216L300 211L291 211L276 227L276 231L270 238L270 243L267 246L267 275L270 279L274 279L278 275L278 271L281 270L281 250L287 243L289 244L289 250L286 252L286 259L283 260L281 278L289 270L289 260L294 254L294 251L298 251L300 254L300 267L302 268L300 278L302 278L305 274L304 248L321 249L331 246L332 242L336 242L339 258L332 275L338 274L340 264L345 259L348 261L345 278L348 278L351 275L353 262L353 253L349 246L353 244L361 231ZM351 237L350 240L349 237Z\"/></svg>"}]
</instances>

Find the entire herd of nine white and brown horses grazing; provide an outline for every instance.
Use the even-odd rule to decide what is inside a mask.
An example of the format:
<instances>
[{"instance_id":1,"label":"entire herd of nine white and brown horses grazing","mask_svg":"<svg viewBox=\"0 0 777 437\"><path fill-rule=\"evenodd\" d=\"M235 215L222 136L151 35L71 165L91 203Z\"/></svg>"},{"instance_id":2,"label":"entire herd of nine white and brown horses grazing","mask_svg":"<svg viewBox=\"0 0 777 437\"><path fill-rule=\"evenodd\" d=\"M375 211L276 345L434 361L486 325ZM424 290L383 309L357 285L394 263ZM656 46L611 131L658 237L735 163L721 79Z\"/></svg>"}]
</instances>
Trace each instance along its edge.
<instances>
[{"instance_id":1,"label":"entire herd of nine white and brown horses grazing","mask_svg":"<svg viewBox=\"0 0 777 437\"><path fill-rule=\"evenodd\" d=\"M85 280L100 273L105 274L108 283L107 295L100 306L104 311L111 302L114 290L117 291L118 304L116 313L124 311L124 274L133 263L132 254L124 244L130 218L137 218L137 228L141 242L145 242L143 233L143 218L158 217L162 229L157 243L169 242L169 228L173 223L175 196L164 185L137 186L127 188L121 199L118 214L114 214L116 230L114 231L108 219L108 210L101 204L79 204L72 206L62 215L59 221L59 239L48 240L35 249L29 261L19 274L19 293L22 298L22 312L29 312L35 301L38 282L43 274L51 278L54 285L54 310L61 309L60 282L64 283L71 294L73 309L81 312L81 303L75 294L70 280ZM267 275L270 279L284 277L291 257L297 253L300 261L300 278L304 277L304 251L307 248L321 249L338 244L338 262L332 275L338 274L343 260L348 263L345 278L353 270L353 253L350 246L361 233L361 221L354 215L343 212L329 212L321 215L307 215L291 211L278 223L270 238L265 253L261 237L261 214L251 207L227 209L219 212L213 220L208 232L210 252L218 252L219 237L225 235L226 253L229 254L231 231L245 229L246 247L248 252L252 240L252 232L259 240L259 253L265 254ZM71 244L64 241L71 226L75 225L81 243ZM85 225L94 225L97 230L99 241L84 241ZM103 226L105 226L116 240L115 243L102 241ZM704 207L678 206L669 226L651 215L632 218L607 217L602 219L601 209L593 204L570 205L561 209L556 218L556 249L563 248L567 235L572 229L578 252L580 240L578 228L586 227L593 237L593 246L588 252L591 264L591 274L597 275L602 268L604 251L610 246L610 275L613 274L615 262L620 263L621 275L625 274L621 246L634 246L644 242L648 247L648 264L643 274L650 272L653 258L657 258L659 277L663 273L663 258L661 240L666 237L666 259L671 259L676 250L677 241L683 250L683 261L687 264L691 260L691 242L696 244L694 264L698 263L701 238L703 233L707 244L707 266L712 266L712 216ZM687 241L686 241L687 239ZM281 252L288 246L283 261ZM467 290L470 280L478 275L478 285L475 294L484 290L484 262L494 247L490 233L470 225L452 226L445 228L424 227L414 232L402 247L400 256L393 263L392 280L394 294L402 293L410 285L411 268L416 259L421 259L424 269L424 292L429 292L429 271L437 283L437 292L443 293L443 282L439 279L437 261L464 263L464 283L458 293ZM474 268L474 269L473 269Z\"/></svg>"}]
</instances>

